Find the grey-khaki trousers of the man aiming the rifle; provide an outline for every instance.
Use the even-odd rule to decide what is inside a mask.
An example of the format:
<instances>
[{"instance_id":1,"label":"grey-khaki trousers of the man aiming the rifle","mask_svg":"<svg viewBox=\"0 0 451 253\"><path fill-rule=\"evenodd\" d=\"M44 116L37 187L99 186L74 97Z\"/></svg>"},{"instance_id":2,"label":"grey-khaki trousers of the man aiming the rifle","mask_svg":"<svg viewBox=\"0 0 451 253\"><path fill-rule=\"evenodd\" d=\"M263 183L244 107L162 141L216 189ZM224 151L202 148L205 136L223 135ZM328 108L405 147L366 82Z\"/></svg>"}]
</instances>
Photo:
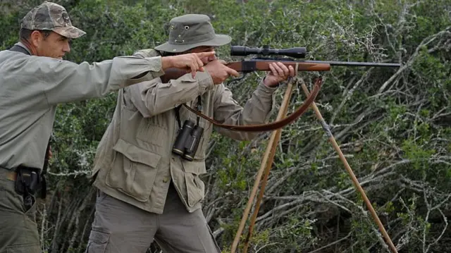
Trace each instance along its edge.
<instances>
[{"instance_id":1,"label":"grey-khaki trousers of the man aiming the rifle","mask_svg":"<svg viewBox=\"0 0 451 253\"><path fill-rule=\"evenodd\" d=\"M86 253L145 253L154 239L166 253L221 252L202 209L189 213L172 184L163 214L97 193Z\"/></svg>"}]
</instances>

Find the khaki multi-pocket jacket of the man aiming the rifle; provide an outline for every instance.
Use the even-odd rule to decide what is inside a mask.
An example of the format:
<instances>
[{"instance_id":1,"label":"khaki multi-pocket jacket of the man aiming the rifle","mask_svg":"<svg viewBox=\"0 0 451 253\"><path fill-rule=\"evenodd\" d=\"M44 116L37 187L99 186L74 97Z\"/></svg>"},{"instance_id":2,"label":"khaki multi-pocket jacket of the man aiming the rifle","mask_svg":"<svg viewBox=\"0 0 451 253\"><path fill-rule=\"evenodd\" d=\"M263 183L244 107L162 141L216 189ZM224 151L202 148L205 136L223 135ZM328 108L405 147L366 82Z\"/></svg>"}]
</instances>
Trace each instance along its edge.
<instances>
[{"instance_id":1,"label":"khaki multi-pocket jacket of the man aiming the rifle","mask_svg":"<svg viewBox=\"0 0 451 253\"><path fill-rule=\"evenodd\" d=\"M156 51L137 51L137 56L157 56ZM160 78L141 82L119 91L113 119L97 147L94 159L94 185L112 197L149 212L162 214L171 181L188 211L201 207L206 173L205 158L211 123L200 118L204 128L194 161L181 159L171 152L178 134L175 107L197 104L202 96L202 113L219 123L230 125L261 124L268 121L277 88L259 83L257 90L240 106L223 84L214 85L211 75L197 72L162 83ZM180 108L180 120L196 115ZM251 140L259 133L236 132L217 128L235 140Z\"/></svg>"}]
</instances>

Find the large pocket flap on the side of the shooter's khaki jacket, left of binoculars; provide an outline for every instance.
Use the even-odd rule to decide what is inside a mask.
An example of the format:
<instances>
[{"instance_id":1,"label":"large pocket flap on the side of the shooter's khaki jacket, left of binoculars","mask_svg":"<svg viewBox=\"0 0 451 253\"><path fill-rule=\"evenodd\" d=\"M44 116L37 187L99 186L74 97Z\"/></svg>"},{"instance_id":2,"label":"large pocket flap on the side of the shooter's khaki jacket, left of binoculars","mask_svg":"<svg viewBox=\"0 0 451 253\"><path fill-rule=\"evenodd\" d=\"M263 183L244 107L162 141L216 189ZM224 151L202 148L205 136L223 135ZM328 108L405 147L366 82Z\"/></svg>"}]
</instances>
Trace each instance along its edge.
<instances>
[{"instance_id":1,"label":"large pocket flap on the side of the shooter's khaki jacket, left of binoculars","mask_svg":"<svg viewBox=\"0 0 451 253\"><path fill-rule=\"evenodd\" d=\"M114 145L113 149L123 154L125 157L130 159L130 161L144 163L153 168L155 168L158 165L161 159L161 156L159 156L158 154L149 152L129 142L125 142L125 140L122 139L118 140L116 145Z\"/></svg>"}]
</instances>

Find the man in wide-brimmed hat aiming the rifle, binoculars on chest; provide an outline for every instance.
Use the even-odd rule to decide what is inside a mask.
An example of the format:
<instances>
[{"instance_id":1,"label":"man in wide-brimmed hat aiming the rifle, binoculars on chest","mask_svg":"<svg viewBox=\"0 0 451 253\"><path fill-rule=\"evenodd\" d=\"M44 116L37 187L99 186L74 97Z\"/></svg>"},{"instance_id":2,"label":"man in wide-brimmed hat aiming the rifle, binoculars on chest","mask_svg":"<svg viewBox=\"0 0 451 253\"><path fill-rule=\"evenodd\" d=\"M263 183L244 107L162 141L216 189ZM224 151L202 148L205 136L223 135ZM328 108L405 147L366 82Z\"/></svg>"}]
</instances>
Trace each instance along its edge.
<instances>
[{"instance_id":1,"label":"man in wide-brimmed hat aiming the rifle, binoculars on chest","mask_svg":"<svg viewBox=\"0 0 451 253\"><path fill-rule=\"evenodd\" d=\"M214 32L208 16L188 14L171 20L168 42L135 56L213 51L230 40ZM206 71L195 78L154 78L119 92L94 159L94 186L99 191L87 253L144 253L153 238L163 252L221 252L202 214L204 183L199 178L206 173L213 125L180 105L200 105L206 116L228 125L264 123L276 86L295 72L282 63L272 64L272 71L242 107L222 83L238 73L214 56L202 61ZM171 152L185 121L204 129L192 161ZM257 136L216 130L235 140Z\"/></svg>"}]
</instances>

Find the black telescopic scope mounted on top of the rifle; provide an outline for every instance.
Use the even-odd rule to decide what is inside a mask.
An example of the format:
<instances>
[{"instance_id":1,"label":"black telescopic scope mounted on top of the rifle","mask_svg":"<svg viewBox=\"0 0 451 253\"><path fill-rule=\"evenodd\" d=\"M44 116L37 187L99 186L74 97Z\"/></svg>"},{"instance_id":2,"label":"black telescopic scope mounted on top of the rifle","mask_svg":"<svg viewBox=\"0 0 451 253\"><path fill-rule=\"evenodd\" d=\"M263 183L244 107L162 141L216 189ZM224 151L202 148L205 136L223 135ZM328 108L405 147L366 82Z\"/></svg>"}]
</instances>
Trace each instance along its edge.
<instances>
[{"instance_id":1,"label":"black telescopic scope mounted on top of the rifle","mask_svg":"<svg viewBox=\"0 0 451 253\"><path fill-rule=\"evenodd\" d=\"M305 47L292 47L290 49L271 49L269 46L264 46L262 49L242 46L230 47L230 55L232 56L247 56L249 54L273 54L293 58L304 58L306 52L307 49Z\"/></svg>"}]
</instances>

